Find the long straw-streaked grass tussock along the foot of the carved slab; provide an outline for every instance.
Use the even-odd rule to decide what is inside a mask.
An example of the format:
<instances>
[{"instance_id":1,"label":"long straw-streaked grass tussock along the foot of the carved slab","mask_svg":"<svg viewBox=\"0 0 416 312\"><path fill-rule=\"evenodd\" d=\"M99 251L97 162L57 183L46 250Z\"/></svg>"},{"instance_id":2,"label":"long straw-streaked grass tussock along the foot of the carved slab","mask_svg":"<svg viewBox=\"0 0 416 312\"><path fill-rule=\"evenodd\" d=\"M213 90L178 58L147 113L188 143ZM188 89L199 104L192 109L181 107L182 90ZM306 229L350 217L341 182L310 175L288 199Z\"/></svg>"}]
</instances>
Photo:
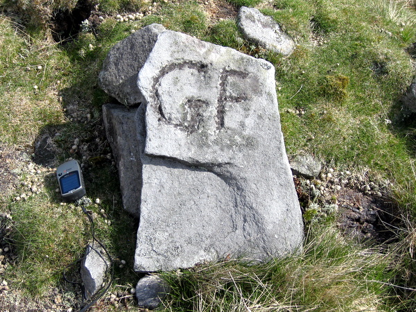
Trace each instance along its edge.
<instances>
[{"instance_id":1,"label":"long straw-streaked grass tussock along the foot of the carved slab","mask_svg":"<svg viewBox=\"0 0 416 312\"><path fill-rule=\"evenodd\" d=\"M166 311L389 311L392 272L376 249L357 248L327 228L299 254L262 265L230 260L164 272Z\"/></svg>"}]
</instances>

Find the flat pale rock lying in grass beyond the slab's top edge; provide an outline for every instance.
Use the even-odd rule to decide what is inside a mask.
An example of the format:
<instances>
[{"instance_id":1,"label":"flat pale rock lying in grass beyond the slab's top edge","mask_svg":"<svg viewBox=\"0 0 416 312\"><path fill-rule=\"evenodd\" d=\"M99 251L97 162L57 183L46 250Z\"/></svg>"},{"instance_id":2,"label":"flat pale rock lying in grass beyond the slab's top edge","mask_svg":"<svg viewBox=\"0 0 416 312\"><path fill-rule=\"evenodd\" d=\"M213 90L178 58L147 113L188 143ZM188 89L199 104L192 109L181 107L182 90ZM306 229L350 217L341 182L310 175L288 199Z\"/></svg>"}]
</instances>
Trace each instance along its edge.
<instances>
[{"instance_id":1,"label":"flat pale rock lying in grass beyond the slab's top edge","mask_svg":"<svg viewBox=\"0 0 416 312\"><path fill-rule=\"evenodd\" d=\"M295 42L281 31L279 24L270 16L261 14L255 8L242 6L239 10L238 25L244 37L265 49L291 55Z\"/></svg>"}]
</instances>

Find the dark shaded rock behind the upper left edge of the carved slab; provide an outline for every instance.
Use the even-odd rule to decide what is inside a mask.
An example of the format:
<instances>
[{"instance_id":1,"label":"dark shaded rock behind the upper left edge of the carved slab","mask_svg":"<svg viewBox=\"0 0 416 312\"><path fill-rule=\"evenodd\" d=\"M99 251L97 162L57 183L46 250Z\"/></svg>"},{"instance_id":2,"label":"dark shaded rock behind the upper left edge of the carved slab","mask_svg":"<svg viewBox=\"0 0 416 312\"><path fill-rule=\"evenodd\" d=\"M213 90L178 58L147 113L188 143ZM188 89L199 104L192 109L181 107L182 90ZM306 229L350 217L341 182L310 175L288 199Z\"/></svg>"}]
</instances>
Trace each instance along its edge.
<instances>
[{"instance_id":1,"label":"dark shaded rock behind the upper left edge of the carved slab","mask_svg":"<svg viewBox=\"0 0 416 312\"><path fill-rule=\"evenodd\" d=\"M146 62L164 26L151 24L115 44L105 58L98 81L101 89L123 105L139 105L137 73Z\"/></svg>"}]
</instances>

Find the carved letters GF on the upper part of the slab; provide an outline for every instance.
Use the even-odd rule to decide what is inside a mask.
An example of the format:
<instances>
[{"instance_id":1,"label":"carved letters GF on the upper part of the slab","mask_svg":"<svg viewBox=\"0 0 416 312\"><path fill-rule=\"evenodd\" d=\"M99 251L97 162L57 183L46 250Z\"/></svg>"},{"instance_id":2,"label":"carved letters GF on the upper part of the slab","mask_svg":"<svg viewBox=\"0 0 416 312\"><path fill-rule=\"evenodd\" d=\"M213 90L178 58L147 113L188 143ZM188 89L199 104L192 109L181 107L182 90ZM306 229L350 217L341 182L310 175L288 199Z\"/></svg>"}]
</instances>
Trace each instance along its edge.
<instances>
[{"instance_id":1,"label":"carved letters GF on the upper part of the slab","mask_svg":"<svg viewBox=\"0 0 416 312\"><path fill-rule=\"evenodd\" d=\"M160 122L188 134L203 128L220 131L227 103L248 101L248 93L235 87L248 77L244 71L218 70L202 62L168 64L153 83L155 112Z\"/></svg>"}]
</instances>

